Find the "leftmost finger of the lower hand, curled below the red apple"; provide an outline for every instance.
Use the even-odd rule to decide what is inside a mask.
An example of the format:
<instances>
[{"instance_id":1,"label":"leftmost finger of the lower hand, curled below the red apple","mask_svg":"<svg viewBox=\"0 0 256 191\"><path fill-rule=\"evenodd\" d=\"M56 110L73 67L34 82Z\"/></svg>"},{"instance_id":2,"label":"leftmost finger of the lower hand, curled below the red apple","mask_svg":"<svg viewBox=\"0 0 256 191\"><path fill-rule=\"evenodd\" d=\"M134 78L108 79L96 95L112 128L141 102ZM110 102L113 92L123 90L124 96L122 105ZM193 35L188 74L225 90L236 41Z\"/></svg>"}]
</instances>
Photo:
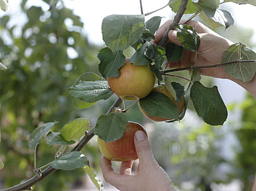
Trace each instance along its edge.
<instances>
[{"instance_id":1,"label":"leftmost finger of the lower hand, curled below the red apple","mask_svg":"<svg viewBox=\"0 0 256 191\"><path fill-rule=\"evenodd\" d=\"M101 170L106 182L115 187L120 185L120 181L123 180L123 176L113 170L111 161L107 160L105 157L101 157Z\"/></svg>"}]
</instances>

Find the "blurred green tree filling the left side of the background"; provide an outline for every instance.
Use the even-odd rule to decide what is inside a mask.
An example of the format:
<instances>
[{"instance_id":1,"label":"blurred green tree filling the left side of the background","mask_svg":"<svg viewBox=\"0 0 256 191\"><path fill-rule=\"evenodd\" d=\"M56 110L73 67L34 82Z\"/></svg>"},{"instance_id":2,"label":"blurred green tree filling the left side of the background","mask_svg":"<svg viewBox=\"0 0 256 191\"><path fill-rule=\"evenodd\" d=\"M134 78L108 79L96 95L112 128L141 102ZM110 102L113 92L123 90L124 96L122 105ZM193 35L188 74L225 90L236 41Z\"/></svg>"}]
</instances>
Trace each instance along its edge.
<instances>
[{"instance_id":1,"label":"blurred green tree filling the left side of the background","mask_svg":"<svg viewBox=\"0 0 256 191\"><path fill-rule=\"evenodd\" d=\"M27 17L22 29L18 23L11 26L10 16L0 19L0 59L8 67L0 75L0 158L5 164L0 182L5 187L33 176L33 154L27 145L33 129L59 121L55 127L59 130L83 116L66 89L85 71L98 70L99 47L88 43L80 17L62 1L44 2L49 7L46 11L22 1L22 14ZM37 150L38 167L52 161L57 150L42 141ZM84 150L93 156L98 154L95 146ZM99 160L94 163L99 164ZM81 180L83 173L82 169L58 171L35 189L64 190Z\"/></svg>"}]
</instances>

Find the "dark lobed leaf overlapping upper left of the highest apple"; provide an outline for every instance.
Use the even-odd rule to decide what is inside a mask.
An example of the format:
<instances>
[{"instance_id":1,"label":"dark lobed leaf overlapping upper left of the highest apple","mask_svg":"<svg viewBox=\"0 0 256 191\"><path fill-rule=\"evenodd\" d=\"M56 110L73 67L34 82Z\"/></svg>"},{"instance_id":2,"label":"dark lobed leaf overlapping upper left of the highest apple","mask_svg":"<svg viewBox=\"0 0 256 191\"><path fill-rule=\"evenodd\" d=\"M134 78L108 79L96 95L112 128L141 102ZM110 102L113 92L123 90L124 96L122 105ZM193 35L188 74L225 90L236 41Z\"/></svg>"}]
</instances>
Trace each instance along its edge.
<instances>
[{"instance_id":1,"label":"dark lobed leaf overlapping upper left of the highest apple","mask_svg":"<svg viewBox=\"0 0 256 191\"><path fill-rule=\"evenodd\" d=\"M108 47L99 51L98 58L100 60L100 64L98 65L100 74L105 78L118 77L120 75L118 69L126 62L123 51L119 50L113 53Z\"/></svg>"}]
</instances>

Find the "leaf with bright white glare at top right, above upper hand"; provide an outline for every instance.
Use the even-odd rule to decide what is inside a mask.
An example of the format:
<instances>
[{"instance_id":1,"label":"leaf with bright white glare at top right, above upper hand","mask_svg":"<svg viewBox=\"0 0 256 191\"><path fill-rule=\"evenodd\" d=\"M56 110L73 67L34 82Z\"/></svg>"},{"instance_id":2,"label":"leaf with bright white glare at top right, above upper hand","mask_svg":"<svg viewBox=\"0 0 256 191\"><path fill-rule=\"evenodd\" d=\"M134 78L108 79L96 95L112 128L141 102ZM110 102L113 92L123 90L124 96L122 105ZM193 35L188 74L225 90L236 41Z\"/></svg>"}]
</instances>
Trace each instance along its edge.
<instances>
[{"instance_id":1,"label":"leaf with bright white glare at top right, above upper hand","mask_svg":"<svg viewBox=\"0 0 256 191\"><path fill-rule=\"evenodd\" d=\"M229 11L221 10L221 9L212 9L212 8L203 7L203 6L202 6L202 9L203 9L204 13L211 20L213 20L214 22L217 22L219 25L225 26L225 28L228 28L234 24L234 19L232 18ZM203 15L201 15L201 18L204 19L203 21L205 21L205 22L208 21L206 18L204 18ZM208 24L208 22L207 22L207 24ZM209 22L209 23L210 23L210 25L214 26L214 27L212 27L212 29L214 30L216 25L213 25L212 22Z\"/></svg>"}]
</instances>

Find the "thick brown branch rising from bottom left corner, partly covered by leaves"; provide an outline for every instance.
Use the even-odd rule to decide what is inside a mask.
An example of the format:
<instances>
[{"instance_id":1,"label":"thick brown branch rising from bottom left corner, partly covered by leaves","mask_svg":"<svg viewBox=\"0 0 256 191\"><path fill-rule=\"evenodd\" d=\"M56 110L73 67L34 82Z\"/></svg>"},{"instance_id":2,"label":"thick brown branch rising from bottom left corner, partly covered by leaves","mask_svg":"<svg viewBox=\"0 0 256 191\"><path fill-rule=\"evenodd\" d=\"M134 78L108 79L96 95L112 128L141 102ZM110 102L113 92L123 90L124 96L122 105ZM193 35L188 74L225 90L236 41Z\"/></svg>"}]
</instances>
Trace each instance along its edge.
<instances>
[{"instance_id":1,"label":"thick brown branch rising from bottom left corner, partly covered by leaves","mask_svg":"<svg viewBox=\"0 0 256 191\"><path fill-rule=\"evenodd\" d=\"M117 98L116 102L111 106L111 108L109 109L109 111L107 111L106 114L109 114L110 112L115 110L115 108L120 106L121 103L122 103L122 99ZM81 141L78 142L78 144L71 150L71 152L72 151L81 151L82 148L84 146L86 146L87 142L90 139L92 139L94 135L95 134L94 134L94 127L93 127L92 129L89 130L88 133L86 133L86 135L83 136ZM44 178L46 178L47 176L49 176L50 174L52 174L55 171L56 171L56 169L54 169L52 165L49 165L47 169L42 171L41 177L38 177L37 175L35 175L32 178L30 178L29 180L22 182L14 187L7 188L4 191L18 191L18 190L27 190L27 189L30 190L33 185L35 185L38 182L41 182Z\"/></svg>"}]
</instances>

